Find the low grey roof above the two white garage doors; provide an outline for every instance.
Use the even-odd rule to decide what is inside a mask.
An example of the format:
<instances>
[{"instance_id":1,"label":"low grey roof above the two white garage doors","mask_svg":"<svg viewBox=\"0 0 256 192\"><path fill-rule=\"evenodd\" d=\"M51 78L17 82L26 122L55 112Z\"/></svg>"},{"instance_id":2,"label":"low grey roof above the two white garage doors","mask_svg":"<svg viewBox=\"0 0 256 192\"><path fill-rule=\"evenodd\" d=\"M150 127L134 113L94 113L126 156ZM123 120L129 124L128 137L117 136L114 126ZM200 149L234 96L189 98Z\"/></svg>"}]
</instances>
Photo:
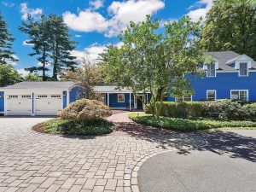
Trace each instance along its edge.
<instances>
[{"instance_id":1,"label":"low grey roof above the two white garage doors","mask_svg":"<svg viewBox=\"0 0 256 192\"><path fill-rule=\"evenodd\" d=\"M72 88L74 85L72 81L23 81L3 87L3 89L68 89Z\"/></svg>"}]
</instances>

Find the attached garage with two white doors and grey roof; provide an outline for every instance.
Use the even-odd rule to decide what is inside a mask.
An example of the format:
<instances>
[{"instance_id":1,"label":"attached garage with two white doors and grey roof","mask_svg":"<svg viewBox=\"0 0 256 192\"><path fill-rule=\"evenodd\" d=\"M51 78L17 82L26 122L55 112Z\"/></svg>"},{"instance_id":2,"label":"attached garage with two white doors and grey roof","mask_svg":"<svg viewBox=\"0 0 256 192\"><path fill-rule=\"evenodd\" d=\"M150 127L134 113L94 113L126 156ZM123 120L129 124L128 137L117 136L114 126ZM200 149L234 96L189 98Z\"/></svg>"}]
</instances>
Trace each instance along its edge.
<instances>
[{"instance_id":1,"label":"attached garage with two white doors and grey roof","mask_svg":"<svg viewBox=\"0 0 256 192\"><path fill-rule=\"evenodd\" d=\"M81 97L71 81L20 82L0 89L0 109L4 115L57 115Z\"/></svg>"}]
</instances>

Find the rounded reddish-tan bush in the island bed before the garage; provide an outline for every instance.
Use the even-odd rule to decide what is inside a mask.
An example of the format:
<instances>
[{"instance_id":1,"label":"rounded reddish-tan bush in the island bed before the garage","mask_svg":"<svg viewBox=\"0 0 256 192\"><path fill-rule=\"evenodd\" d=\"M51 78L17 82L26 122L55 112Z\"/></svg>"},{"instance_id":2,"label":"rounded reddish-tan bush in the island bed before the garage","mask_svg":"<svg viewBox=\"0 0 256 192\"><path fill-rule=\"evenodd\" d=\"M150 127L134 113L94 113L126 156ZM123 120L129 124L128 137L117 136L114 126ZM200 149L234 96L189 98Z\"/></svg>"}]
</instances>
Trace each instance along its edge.
<instances>
[{"instance_id":1,"label":"rounded reddish-tan bush in the island bed before the garage","mask_svg":"<svg viewBox=\"0 0 256 192\"><path fill-rule=\"evenodd\" d=\"M79 99L70 103L58 116L61 119L102 119L112 114L111 109L103 102Z\"/></svg>"}]
</instances>

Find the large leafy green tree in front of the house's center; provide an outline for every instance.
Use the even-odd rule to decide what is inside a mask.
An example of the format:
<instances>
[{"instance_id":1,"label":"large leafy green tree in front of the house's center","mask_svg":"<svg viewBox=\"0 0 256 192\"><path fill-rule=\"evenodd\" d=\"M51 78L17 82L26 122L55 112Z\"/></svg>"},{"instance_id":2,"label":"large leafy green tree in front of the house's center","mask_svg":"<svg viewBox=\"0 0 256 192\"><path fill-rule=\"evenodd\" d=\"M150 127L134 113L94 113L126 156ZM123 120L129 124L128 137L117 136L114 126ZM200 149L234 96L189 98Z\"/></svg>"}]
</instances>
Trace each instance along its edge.
<instances>
[{"instance_id":1,"label":"large leafy green tree in front of the house's center","mask_svg":"<svg viewBox=\"0 0 256 192\"><path fill-rule=\"evenodd\" d=\"M155 103L162 102L167 91L172 96L190 94L192 88L185 74L200 73L201 64L207 60L201 44L201 20L183 17L166 23L164 33L159 30L160 21L150 16L137 24L131 22L120 35L124 44L120 48L108 46L101 62L108 81L131 89L135 96L149 91L154 113ZM183 89L173 86L170 90L182 80Z\"/></svg>"}]
</instances>

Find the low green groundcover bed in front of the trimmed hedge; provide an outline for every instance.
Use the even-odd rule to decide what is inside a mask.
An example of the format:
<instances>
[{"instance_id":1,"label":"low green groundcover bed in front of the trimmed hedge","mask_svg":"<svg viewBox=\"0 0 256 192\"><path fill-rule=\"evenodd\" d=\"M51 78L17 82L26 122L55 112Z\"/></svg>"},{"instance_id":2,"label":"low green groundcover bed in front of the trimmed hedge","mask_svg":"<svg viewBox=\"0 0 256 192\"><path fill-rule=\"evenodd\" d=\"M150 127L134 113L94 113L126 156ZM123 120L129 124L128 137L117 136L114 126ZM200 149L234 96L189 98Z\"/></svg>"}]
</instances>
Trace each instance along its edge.
<instances>
[{"instance_id":1,"label":"low green groundcover bed in front of the trimmed hedge","mask_svg":"<svg viewBox=\"0 0 256 192\"><path fill-rule=\"evenodd\" d=\"M153 117L145 113L130 113L129 118L142 125L151 125L173 131L201 131L214 129L255 129L252 121L221 121L212 119L175 119Z\"/></svg>"}]
</instances>

